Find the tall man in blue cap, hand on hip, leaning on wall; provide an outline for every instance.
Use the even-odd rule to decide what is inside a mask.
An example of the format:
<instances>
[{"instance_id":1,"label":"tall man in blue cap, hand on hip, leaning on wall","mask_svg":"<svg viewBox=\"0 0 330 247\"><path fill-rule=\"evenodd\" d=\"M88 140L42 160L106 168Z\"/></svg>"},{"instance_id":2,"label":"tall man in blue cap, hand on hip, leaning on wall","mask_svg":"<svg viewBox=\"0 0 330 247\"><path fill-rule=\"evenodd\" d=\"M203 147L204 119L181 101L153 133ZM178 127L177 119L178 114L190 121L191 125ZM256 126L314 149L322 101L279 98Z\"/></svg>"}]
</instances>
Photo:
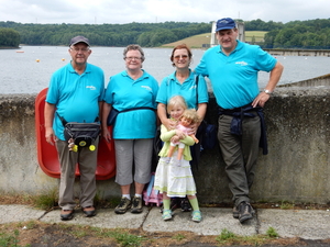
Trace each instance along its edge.
<instances>
[{"instance_id":1,"label":"tall man in blue cap, hand on hip, leaning on wall","mask_svg":"<svg viewBox=\"0 0 330 247\"><path fill-rule=\"evenodd\" d=\"M241 223L253 217L249 192L253 183L258 147L267 154L263 106L274 91L283 66L256 45L238 41L235 22L218 20L218 46L208 49L195 71L209 77L219 106L218 139L229 188L233 194L233 217ZM263 91L260 70L271 72Z\"/></svg>"}]
</instances>

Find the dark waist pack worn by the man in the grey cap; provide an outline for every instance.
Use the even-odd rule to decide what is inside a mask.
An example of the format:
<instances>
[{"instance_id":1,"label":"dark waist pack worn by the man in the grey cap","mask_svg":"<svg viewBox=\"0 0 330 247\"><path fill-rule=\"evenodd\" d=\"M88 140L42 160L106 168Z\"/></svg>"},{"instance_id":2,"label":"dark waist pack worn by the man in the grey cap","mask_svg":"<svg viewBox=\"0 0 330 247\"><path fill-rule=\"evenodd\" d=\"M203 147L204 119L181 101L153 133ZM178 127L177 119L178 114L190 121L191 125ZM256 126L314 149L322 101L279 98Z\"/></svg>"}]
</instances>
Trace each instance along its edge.
<instances>
[{"instance_id":1,"label":"dark waist pack worn by the man in the grey cap","mask_svg":"<svg viewBox=\"0 0 330 247\"><path fill-rule=\"evenodd\" d=\"M66 141L73 139L75 146L72 148L77 151L79 148L89 147L90 150L95 150L94 142L98 138L101 132L101 125L96 117L95 123L77 123L67 122L58 113L62 124L64 126L64 137Z\"/></svg>"}]
</instances>

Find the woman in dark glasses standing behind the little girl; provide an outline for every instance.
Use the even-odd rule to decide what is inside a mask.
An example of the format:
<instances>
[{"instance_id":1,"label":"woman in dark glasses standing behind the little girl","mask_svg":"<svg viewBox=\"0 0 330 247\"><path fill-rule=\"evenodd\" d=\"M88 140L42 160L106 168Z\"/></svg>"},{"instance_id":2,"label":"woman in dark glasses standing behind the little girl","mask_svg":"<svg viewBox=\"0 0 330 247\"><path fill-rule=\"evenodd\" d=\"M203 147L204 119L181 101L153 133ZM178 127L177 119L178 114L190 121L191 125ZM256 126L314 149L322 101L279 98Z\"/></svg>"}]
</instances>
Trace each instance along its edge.
<instances>
[{"instance_id":1,"label":"woman in dark glasses standing behind the little girl","mask_svg":"<svg viewBox=\"0 0 330 247\"><path fill-rule=\"evenodd\" d=\"M193 53L186 44L174 47L170 55L170 61L173 67L175 67L175 71L163 79L156 98L156 102L158 103L158 117L167 130L174 130L177 124L175 121L167 117L166 114L166 105L172 97L182 96L185 99L188 109L196 109L200 120L204 120L205 117L209 99L204 77L195 75L189 68L193 63ZM193 126L191 134L197 133L199 124L200 123L197 123ZM197 138L199 138L198 134ZM200 151L199 145L200 144L195 144L195 146L193 146L193 164L197 164L198 161ZM164 209L165 206L168 207L166 203L168 202L164 202ZM177 206L178 203L180 203L183 211L191 211L191 206L187 199L173 200L172 207Z\"/></svg>"}]
</instances>

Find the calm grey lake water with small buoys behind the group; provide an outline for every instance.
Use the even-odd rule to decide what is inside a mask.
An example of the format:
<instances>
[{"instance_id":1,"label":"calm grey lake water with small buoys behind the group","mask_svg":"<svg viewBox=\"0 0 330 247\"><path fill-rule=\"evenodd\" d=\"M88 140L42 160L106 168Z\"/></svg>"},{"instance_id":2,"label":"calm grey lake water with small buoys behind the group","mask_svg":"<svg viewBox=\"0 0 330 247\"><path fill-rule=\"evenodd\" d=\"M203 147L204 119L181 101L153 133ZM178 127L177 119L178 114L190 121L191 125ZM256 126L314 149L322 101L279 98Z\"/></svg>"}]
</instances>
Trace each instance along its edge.
<instances>
[{"instance_id":1,"label":"calm grey lake water with small buoys behind the group","mask_svg":"<svg viewBox=\"0 0 330 247\"><path fill-rule=\"evenodd\" d=\"M91 49L92 54L88 61L103 69L107 86L110 76L124 70L123 47L92 47ZM68 47L56 46L0 49L0 93L37 93L48 87L52 74L69 63L70 56L67 50ZM145 53L143 68L158 82L174 71L169 60L170 48L143 48L143 50ZM202 49L193 49L193 69L198 65L204 53ZM330 72L330 57L278 56L277 59L285 68L279 85L311 79ZM267 72L260 72L261 88L265 87L267 78Z\"/></svg>"}]
</instances>

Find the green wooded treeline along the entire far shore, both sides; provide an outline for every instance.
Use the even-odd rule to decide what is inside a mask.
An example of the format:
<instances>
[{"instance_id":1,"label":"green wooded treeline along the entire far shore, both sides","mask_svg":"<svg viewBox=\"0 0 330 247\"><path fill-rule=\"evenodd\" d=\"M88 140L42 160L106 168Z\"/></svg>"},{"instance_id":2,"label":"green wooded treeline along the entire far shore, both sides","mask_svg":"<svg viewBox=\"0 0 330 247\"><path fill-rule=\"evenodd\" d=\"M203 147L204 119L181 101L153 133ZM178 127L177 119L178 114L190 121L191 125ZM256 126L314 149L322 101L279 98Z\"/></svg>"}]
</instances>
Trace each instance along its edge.
<instances>
[{"instance_id":1,"label":"green wooded treeline along the entire far shore, both sides","mask_svg":"<svg viewBox=\"0 0 330 247\"><path fill-rule=\"evenodd\" d=\"M237 20L244 22L243 20ZM330 19L308 21L245 21L245 31L266 31L264 48L330 49ZM0 22L0 46L68 45L75 35L85 35L95 46L140 44L156 47L197 34L210 33L210 23L164 22L129 24L22 24Z\"/></svg>"}]
</instances>

